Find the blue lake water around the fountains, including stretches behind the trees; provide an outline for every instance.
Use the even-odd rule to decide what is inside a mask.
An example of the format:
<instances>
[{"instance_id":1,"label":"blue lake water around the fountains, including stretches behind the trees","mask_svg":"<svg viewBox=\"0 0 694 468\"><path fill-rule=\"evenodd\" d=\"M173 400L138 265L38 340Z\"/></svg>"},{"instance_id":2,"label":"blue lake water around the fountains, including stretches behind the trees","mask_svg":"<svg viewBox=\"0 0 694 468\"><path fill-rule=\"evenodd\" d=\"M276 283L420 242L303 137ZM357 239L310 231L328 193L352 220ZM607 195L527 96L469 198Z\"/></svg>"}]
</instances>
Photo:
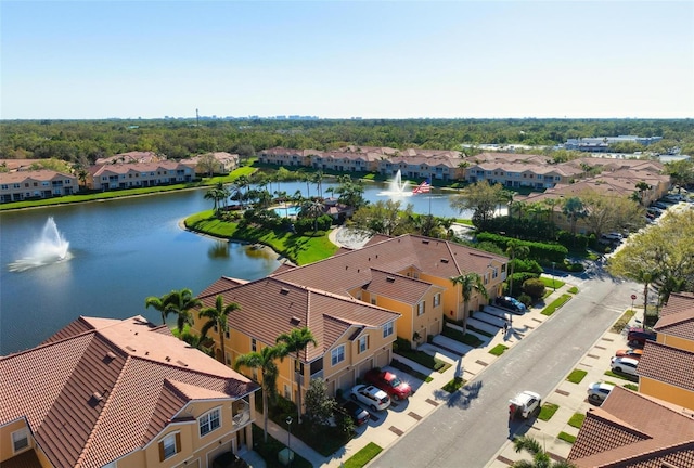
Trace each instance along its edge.
<instances>
[{"instance_id":1,"label":"blue lake water around the fountains, including stretches behind the trees","mask_svg":"<svg viewBox=\"0 0 694 468\"><path fill-rule=\"evenodd\" d=\"M330 186L324 183L323 191ZM367 185L365 198L387 199L380 195L384 187ZM279 190L307 194L300 182L282 182ZM279 263L266 250L180 229L185 217L211 209L205 191L1 212L0 354L31 348L79 315L141 314L159 323L159 313L144 308L147 296L183 287L197 295L222 275L256 280L274 271ZM316 195L314 185L310 192ZM446 194L402 199L415 212L428 213L430 206L433 214L459 216ZM17 262L27 265L23 260L34 255L49 217L69 243L68 257L17 269Z\"/></svg>"}]
</instances>

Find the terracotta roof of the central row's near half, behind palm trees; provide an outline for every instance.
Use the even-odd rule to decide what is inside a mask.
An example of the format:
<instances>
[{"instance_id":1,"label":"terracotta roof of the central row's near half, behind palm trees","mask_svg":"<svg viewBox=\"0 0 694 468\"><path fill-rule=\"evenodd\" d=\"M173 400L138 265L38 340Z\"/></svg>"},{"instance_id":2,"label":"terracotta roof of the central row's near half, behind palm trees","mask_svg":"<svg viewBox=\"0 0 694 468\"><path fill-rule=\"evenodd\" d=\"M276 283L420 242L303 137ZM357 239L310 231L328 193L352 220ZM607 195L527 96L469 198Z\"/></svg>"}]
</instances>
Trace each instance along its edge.
<instances>
[{"instance_id":1,"label":"terracotta roof of the central row's near half, behind palm trees","mask_svg":"<svg viewBox=\"0 0 694 468\"><path fill-rule=\"evenodd\" d=\"M273 344L279 335L307 326L318 341L300 356L311 362L322 356L337 338L354 326L381 327L400 314L322 290L269 276L200 296L203 307L214 307L217 295L241 308L229 316L229 326L257 340Z\"/></svg>"}]
</instances>

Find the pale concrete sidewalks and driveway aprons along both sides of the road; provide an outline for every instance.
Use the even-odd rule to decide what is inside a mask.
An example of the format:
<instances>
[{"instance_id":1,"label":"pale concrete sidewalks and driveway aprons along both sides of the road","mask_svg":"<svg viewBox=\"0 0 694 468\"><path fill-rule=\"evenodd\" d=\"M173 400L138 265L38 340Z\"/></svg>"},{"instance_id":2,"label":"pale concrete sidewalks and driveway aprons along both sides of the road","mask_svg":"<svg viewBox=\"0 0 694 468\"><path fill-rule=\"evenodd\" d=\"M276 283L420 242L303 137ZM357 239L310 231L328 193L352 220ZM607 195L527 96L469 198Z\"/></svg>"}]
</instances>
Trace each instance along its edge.
<instances>
[{"instance_id":1,"label":"pale concrete sidewalks and driveway aprons along both sides of the road","mask_svg":"<svg viewBox=\"0 0 694 468\"><path fill-rule=\"evenodd\" d=\"M345 460L347 460L349 457L351 457L361 448L363 448L369 442L373 442L378 446L383 447L384 450L387 450L388 446L390 446L394 442L396 442L403 433L413 429L420 420L432 415L438 406L440 406L449 398L451 398L451 394L441 390L441 387L444 387L447 382L452 380L455 377L458 372L462 370L463 378L467 380L467 382L470 384L472 380L475 379L475 377L484 373L485 368L488 365L490 365L498 359L502 359L503 355L494 356L490 354L489 353L490 349L494 348L497 344L504 344L511 348L516 342L518 342L524 337L526 337L535 328L540 326L544 321L551 318L545 315L542 315L540 312L545 307L545 304L551 303L554 299L558 298L563 294L567 294L568 289L570 289L571 287L573 287L571 284L565 284L545 298L544 306L531 308L524 315L513 315L512 316L513 323L510 326L509 332L504 335L503 330L500 328L499 332L492 338L490 338L489 341L487 341L483 347L471 350L468 347L461 343L460 352L464 353L463 358L460 358L454 353L446 352L440 349L437 350L435 346L423 344L421 347L423 351L428 353L436 353L437 358L451 364L451 366L444 373L437 373L428 368L424 368L423 366L411 362L407 358L402 358L396 354L395 359L397 359L398 361L404 364L412 366L419 372L422 372L428 375L429 377L432 377L432 381L429 382L417 381L415 384L416 392L413 395L411 395L408 399L408 401L394 402L390 408L388 408L385 412L380 412L376 415L378 417L378 420L376 421L370 420L367 425L358 428L357 435L351 441L349 441L347 445L345 445L343 448L340 448L338 452L334 453L330 457L324 457L320 455L319 453L310 448L308 445L306 445L304 442L296 439L294 435L292 435L292 441L291 441L292 450L295 451L297 454L301 455L304 458L308 459L310 463L312 463L314 467L335 467L335 468L340 467L340 465ZM619 337L618 335L615 335L615 336L617 338ZM621 343L620 340L614 339L613 341L615 347L617 346L624 347L624 344L620 344ZM451 346L449 341L447 341L447 343ZM611 355L614 355L614 351L612 351L612 347L609 347L609 350L605 348L604 351L605 351L605 355L609 354L611 352L612 352ZM605 360L601 358L599 361L606 362L605 368L609 367L608 359ZM595 369L595 374L597 374L597 369ZM402 377L409 378L409 376L407 375ZM593 380L590 380L590 381L597 380L599 378L596 377L597 375L593 376L589 374L589 376L587 376L583 379L583 381L580 385L578 385L578 387L575 384L566 382L574 387L577 387L571 389L573 392L569 392L569 394L573 393L574 400L576 399L584 400L586 388L589 384L589 380L591 378L593 378ZM612 378L612 380L614 380L614 378ZM556 395L560 395L560 393L556 393ZM553 394L552 399L554 396L555 395ZM545 396L545 400L548 401L552 402L553 401L552 399L549 399ZM579 403L580 403L579 401L571 401L570 403L568 402L557 403L561 406L563 406L563 410L561 411L561 414L560 412L557 412L557 414L555 414L554 417L550 419L550 421L544 424L547 429L544 430L544 432L542 431L540 432L542 437L539 438L539 440L543 440L542 438L545 438L544 435L545 432L554 433L553 439L555 439L556 434L562 430L573 434L577 433L577 430L574 428L569 427L569 430L574 429L573 432L564 428L564 426L567 426L567 420L568 420L568 418L565 417L564 413L567 413L567 414L570 413L568 415L568 417L570 417L574 414L573 410L578 408L580 406ZM257 422L259 425L262 425L261 415L258 415ZM535 426L538 426L539 422L541 421L536 422ZM287 431L272 421L269 421L268 424L268 431L273 438L275 438L279 441L288 440ZM557 443L560 445L556 445ZM566 445L566 447L561 444ZM550 450L550 446L551 446L551 450ZM570 450L570 445L561 440L556 440L556 442L552 442L551 445L548 445L548 451L552 453L556 453L556 455L562 457L565 457L566 455L568 455L568 450ZM492 461L498 461L501 465L490 465L490 466L492 467L509 466L512 463L512 460L520 459L523 457L523 454L515 454L515 452L513 451L513 445L509 446L509 444L506 444L498 455L499 456ZM502 459L506 459L510 461L504 463L504 461L501 461ZM253 467L262 468L260 465L256 465L256 464L254 464Z\"/></svg>"}]
</instances>

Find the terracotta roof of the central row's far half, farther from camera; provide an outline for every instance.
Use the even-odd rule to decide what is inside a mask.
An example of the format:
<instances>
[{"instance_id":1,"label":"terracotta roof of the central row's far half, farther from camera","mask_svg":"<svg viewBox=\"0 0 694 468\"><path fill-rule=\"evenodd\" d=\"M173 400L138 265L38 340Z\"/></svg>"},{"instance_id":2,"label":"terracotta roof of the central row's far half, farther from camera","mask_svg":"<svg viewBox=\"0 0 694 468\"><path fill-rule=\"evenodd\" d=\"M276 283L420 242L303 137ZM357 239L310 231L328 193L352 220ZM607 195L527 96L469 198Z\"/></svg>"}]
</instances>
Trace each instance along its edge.
<instances>
[{"instance_id":1,"label":"terracotta roof of the central row's far half, farther from camera","mask_svg":"<svg viewBox=\"0 0 694 468\"><path fill-rule=\"evenodd\" d=\"M467 272L484 273L491 262L505 263L505 257L447 240L402 235L382 242L372 239L363 248L336 255L274 277L339 295L371 281L371 269L400 273L414 268L437 277Z\"/></svg>"}]
</instances>

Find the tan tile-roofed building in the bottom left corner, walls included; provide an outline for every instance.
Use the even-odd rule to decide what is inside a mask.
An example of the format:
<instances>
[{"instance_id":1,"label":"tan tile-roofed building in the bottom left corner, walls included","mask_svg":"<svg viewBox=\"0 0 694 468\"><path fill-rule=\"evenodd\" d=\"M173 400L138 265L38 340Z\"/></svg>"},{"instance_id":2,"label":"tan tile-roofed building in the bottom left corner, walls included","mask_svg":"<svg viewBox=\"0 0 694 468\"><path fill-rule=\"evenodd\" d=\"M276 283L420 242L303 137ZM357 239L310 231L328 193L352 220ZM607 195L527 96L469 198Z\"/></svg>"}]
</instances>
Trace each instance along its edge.
<instances>
[{"instance_id":1,"label":"tan tile-roofed building in the bottom left corner, walls included","mask_svg":"<svg viewBox=\"0 0 694 468\"><path fill-rule=\"evenodd\" d=\"M0 358L2 467L208 467L253 446L258 386L142 316Z\"/></svg>"}]
</instances>

